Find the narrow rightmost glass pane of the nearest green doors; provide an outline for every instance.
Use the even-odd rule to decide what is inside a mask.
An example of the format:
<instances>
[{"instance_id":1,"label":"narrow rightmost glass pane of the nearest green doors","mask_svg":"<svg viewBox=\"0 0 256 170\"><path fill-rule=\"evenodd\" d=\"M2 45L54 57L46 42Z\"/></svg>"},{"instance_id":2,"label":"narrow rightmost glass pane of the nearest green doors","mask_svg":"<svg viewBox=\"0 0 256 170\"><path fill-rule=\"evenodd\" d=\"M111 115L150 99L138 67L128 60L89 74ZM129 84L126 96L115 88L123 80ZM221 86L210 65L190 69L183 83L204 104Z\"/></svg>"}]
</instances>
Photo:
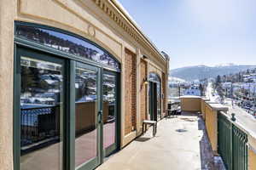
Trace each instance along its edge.
<instances>
[{"instance_id":1,"label":"narrow rightmost glass pane of the nearest green doors","mask_svg":"<svg viewBox=\"0 0 256 170\"><path fill-rule=\"evenodd\" d=\"M102 122L103 122L103 149L106 154L116 149L117 127L117 77L113 73L102 75ZM107 150L108 149L108 150Z\"/></svg>"}]
</instances>

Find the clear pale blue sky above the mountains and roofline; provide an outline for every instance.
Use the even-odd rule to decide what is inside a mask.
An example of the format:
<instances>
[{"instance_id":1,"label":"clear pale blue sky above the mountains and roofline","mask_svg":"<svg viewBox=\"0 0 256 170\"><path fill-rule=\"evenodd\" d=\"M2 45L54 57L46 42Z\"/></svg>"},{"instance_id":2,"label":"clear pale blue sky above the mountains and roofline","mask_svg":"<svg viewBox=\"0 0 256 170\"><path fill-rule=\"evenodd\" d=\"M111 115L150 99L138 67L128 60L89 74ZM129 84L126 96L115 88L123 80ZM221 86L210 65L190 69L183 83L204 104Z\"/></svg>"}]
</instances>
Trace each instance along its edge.
<instances>
[{"instance_id":1,"label":"clear pale blue sky above the mountains and roofline","mask_svg":"<svg viewBox=\"0 0 256 170\"><path fill-rule=\"evenodd\" d=\"M255 0L119 0L171 67L256 64Z\"/></svg>"}]
</instances>

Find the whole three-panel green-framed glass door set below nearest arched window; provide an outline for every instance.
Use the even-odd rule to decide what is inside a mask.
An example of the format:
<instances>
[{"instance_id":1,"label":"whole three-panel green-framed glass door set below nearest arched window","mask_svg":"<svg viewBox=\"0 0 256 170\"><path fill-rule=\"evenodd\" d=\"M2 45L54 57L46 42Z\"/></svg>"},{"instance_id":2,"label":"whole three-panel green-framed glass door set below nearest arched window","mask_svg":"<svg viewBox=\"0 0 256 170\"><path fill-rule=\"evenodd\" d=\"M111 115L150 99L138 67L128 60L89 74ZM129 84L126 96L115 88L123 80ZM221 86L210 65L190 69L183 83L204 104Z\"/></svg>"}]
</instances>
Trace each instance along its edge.
<instances>
[{"instance_id":1,"label":"whole three-panel green-framed glass door set below nearest arched window","mask_svg":"<svg viewBox=\"0 0 256 170\"><path fill-rule=\"evenodd\" d=\"M15 169L90 170L117 150L117 73L29 48L15 59Z\"/></svg>"}]
</instances>

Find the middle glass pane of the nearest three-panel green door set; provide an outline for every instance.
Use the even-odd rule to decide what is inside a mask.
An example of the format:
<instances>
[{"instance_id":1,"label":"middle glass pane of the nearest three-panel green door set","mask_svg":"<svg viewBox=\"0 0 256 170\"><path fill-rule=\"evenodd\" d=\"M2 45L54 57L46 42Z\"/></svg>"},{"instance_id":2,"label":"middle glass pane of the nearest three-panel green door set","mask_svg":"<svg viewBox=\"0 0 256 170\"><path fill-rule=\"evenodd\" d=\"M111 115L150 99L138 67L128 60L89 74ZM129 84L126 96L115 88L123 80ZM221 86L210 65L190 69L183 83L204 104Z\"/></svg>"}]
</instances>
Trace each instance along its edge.
<instances>
[{"instance_id":1,"label":"middle glass pane of the nearest three-panel green door set","mask_svg":"<svg viewBox=\"0 0 256 170\"><path fill-rule=\"evenodd\" d=\"M83 64L76 66L75 74L75 166L81 167L98 156L97 70Z\"/></svg>"}]
</instances>

